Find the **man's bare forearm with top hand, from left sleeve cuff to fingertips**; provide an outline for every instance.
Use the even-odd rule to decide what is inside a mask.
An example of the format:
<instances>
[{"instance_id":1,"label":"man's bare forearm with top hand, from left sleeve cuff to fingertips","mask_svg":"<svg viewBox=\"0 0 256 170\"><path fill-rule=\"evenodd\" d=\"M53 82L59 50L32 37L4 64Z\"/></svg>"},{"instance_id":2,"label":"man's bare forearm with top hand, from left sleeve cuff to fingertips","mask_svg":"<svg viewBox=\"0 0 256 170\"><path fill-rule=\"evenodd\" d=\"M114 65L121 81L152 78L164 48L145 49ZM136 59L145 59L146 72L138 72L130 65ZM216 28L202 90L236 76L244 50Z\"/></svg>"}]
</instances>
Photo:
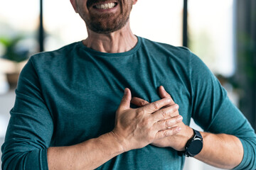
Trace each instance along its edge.
<instances>
[{"instance_id":1,"label":"man's bare forearm with top hand, from left sleeve cuff to fingertips","mask_svg":"<svg viewBox=\"0 0 256 170\"><path fill-rule=\"evenodd\" d=\"M125 89L124 92L114 130L77 145L49 147L48 169L96 169L123 152L178 133L179 121L171 118L171 115L178 115L177 105L169 106L171 98L134 109L130 108L131 91Z\"/></svg>"}]
</instances>

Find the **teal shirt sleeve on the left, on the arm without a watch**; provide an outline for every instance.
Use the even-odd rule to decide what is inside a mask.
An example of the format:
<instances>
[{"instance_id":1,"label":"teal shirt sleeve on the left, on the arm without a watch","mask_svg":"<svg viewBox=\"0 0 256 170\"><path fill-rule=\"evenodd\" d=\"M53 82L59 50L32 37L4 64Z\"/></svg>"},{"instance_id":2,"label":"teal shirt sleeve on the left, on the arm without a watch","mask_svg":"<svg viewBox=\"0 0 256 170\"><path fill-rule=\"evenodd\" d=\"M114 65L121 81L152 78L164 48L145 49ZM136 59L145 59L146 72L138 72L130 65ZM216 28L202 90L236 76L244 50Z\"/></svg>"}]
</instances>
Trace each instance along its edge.
<instances>
[{"instance_id":1,"label":"teal shirt sleeve on the left, on the arm without a watch","mask_svg":"<svg viewBox=\"0 0 256 170\"><path fill-rule=\"evenodd\" d=\"M48 169L47 148L53 135L53 118L46 107L33 61L18 79L2 151L3 170Z\"/></svg>"}]
</instances>

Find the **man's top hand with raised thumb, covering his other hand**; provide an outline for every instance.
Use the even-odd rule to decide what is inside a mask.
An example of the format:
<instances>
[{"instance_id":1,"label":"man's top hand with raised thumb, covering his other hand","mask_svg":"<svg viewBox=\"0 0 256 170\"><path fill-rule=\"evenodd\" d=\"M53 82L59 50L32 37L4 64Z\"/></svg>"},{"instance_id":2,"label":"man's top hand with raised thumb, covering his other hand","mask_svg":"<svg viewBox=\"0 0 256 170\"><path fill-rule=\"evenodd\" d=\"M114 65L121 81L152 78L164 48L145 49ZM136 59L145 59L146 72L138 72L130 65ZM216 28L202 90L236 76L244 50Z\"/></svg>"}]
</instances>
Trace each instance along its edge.
<instances>
[{"instance_id":1,"label":"man's top hand with raised thumb, covering his other hand","mask_svg":"<svg viewBox=\"0 0 256 170\"><path fill-rule=\"evenodd\" d=\"M171 114L178 110L178 105L171 104L171 98L147 104L141 108L130 108L132 94L124 89L124 96L117 109L115 127L110 134L122 145L124 152L139 149L163 137L178 133L181 122L178 116ZM168 106L166 108L163 108ZM161 109L162 108L162 109Z\"/></svg>"}]
</instances>

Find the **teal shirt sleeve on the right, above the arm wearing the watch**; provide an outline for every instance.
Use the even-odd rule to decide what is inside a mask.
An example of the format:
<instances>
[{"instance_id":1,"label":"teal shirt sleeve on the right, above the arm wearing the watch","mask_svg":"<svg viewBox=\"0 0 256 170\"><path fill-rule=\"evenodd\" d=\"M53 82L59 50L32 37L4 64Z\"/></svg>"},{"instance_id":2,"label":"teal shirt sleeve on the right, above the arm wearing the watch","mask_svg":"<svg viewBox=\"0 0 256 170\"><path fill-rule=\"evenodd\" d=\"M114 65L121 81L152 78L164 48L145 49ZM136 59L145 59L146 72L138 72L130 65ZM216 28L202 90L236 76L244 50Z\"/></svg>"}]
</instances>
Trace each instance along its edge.
<instances>
[{"instance_id":1,"label":"teal shirt sleeve on the right, above the arm wearing the watch","mask_svg":"<svg viewBox=\"0 0 256 170\"><path fill-rule=\"evenodd\" d=\"M256 136L252 126L236 108L205 64L191 53L192 118L206 132L235 135L244 156L235 169L256 169Z\"/></svg>"}]
</instances>

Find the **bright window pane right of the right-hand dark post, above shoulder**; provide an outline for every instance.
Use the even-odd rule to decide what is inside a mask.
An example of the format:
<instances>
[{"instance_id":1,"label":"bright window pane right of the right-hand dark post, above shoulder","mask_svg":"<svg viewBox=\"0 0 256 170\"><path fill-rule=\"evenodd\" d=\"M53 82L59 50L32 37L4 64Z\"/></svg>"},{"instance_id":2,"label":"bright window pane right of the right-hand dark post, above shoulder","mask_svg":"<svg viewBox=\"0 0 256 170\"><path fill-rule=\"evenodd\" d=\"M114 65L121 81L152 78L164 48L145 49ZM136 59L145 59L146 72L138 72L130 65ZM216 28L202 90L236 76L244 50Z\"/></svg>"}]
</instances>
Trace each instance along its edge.
<instances>
[{"instance_id":1,"label":"bright window pane right of the right-hand dark post, above shoulder","mask_svg":"<svg viewBox=\"0 0 256 170\"><path fill-rule=\"evenodd\" d=\"M233 9L233 0L188 1L188 45L215 74L225 77L235 72Z\"/></svg>"}]
</instances>

